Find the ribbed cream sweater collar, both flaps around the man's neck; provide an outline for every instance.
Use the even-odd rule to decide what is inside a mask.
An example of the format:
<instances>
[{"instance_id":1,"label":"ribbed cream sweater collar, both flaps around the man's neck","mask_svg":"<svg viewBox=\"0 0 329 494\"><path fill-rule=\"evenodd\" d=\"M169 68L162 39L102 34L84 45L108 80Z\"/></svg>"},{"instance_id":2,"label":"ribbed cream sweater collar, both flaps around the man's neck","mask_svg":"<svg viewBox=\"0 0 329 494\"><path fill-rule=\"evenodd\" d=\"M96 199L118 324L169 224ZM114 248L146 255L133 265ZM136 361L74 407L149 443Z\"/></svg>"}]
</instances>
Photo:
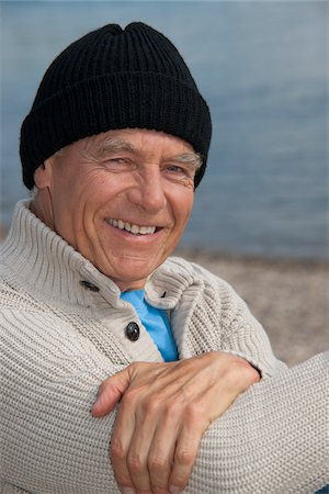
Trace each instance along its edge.
<instances>
[{"instance_id":1,"label":"ribbed cream sweater collar, both flaps around the man's neck","mask_svg":"<svg viewBox=\"0 0 329 494\"><path fill-rule=\"evenodd\" d=\"M45 300L60 299L70 305L91 305L100 300L113 306L124 304L118 287L38 220L29 206L30 201L16 204L8 237L0 248L8 281L13 287L20 283L21 289L37 292ZM192 283L190 265L172 258L150 274L146 299L159 308L173 308Z\"/></svg>"}]
</instances>

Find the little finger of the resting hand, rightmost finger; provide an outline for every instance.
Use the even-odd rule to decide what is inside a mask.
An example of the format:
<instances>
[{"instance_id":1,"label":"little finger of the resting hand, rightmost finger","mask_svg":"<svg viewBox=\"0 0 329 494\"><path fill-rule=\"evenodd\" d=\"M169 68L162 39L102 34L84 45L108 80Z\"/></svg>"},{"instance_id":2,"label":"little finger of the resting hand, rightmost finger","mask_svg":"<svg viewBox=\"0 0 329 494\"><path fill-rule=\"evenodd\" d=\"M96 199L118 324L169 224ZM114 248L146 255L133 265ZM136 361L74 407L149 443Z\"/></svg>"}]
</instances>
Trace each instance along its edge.
<instances>
[{"instance_id":1,"label":"little finger of the resting hand, rightmost finger","mask_svg":"<svg viewBox=\"0 0 329 494\"><path fill-rule=\"evenodd\" d=\"M183 427L178 438L173 456L173 465L169 478L169 491L180 493L184 491L200 447L204 429L195 423L195 427Z\"/></svg>"}]
</instances>

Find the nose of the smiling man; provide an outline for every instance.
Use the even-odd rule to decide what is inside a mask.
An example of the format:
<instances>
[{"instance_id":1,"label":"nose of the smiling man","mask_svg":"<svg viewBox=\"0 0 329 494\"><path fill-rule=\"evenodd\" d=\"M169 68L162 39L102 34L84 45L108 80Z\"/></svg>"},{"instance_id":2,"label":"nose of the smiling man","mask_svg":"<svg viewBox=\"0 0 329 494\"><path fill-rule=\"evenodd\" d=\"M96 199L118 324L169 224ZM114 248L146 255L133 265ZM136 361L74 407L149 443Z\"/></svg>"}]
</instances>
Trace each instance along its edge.
<instances>
[{"instance_id":1,"label":"nose of the smiling man","mask_svg":"<svg viewBox=\"0 0 329 494\"><path fill-rule=\"evenodd\" d=\"M150 167L140 173L134 187L128 191L128 199L151 214L166 207L167 198L160 170L157 167Z\"/></svg>"}]
</instances>

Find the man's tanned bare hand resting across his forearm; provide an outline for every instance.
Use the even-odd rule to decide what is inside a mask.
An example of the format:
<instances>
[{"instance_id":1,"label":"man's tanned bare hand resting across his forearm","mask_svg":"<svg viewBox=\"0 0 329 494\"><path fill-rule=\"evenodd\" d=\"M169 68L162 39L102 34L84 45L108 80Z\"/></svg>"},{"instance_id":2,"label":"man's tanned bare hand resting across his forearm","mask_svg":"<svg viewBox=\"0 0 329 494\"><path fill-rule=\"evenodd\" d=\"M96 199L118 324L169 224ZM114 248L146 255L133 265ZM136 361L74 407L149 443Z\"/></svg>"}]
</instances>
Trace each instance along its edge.
<instances>
[{"instance_id":1,"label":"man's tanned bare hand resting across his forearm","mask_svg":"<svg viewBox=\"0 0 329 494\"><path fill-rule=\"evenodd\" d=\"M92 415L122 398L111 457L123 493L182 492L201 438L259 373L246 360L212 351L169 363L135 362L106 379Z\"/></svg>"}]
</instances>

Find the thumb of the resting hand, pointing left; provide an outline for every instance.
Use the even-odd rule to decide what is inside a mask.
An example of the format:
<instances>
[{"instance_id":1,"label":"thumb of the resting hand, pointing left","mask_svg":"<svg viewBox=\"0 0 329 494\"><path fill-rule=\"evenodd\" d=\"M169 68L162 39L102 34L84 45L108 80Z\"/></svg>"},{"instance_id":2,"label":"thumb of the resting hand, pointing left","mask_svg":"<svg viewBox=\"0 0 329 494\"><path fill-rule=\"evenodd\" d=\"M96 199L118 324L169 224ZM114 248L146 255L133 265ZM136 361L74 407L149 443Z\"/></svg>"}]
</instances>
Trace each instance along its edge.
<instances>
[{"instance_id":1,"label":"thumb of the resting hand, pointing left","mask_svg":"<svg viewBox=\"0 0 329 494\"><path fill-rule=\"evenodd\" d=\"M97 400L91 408L93 417L103 417L113 411L131 382L129 368L125 368L117 374L105 379L99 386Z\"/></svg>"}]
</instances>

